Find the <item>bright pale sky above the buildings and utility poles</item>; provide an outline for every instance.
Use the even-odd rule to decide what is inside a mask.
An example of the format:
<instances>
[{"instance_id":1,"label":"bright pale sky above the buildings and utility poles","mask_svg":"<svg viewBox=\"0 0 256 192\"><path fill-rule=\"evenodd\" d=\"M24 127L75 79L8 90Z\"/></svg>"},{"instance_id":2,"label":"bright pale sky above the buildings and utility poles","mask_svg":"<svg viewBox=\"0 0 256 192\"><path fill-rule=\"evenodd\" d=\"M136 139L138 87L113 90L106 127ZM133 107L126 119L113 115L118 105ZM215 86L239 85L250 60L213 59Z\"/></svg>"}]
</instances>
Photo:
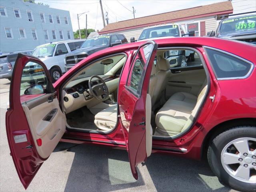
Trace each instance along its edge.
<instances>
[{"instance_id":1,"label":"bright pale sky above the buildings and utility poles","mask_svg":"<svg viewBox=\"0 0 256 192\"><path fill-rule=\"evenodd\" d=\"M192 8L226 0L102 0L104 15L108 12L109 23L133 18L132 7L136 10L135 18L160 14L175 10ZM50 8L68 10L73 31L78 30L77 14L87 13L87 28L103 28L99 0L36 0L48 4ZM79 17L80 29L85 28L85 17ZM106 20L105 20L106 23Z\"/></svg>"}]
</instances>

